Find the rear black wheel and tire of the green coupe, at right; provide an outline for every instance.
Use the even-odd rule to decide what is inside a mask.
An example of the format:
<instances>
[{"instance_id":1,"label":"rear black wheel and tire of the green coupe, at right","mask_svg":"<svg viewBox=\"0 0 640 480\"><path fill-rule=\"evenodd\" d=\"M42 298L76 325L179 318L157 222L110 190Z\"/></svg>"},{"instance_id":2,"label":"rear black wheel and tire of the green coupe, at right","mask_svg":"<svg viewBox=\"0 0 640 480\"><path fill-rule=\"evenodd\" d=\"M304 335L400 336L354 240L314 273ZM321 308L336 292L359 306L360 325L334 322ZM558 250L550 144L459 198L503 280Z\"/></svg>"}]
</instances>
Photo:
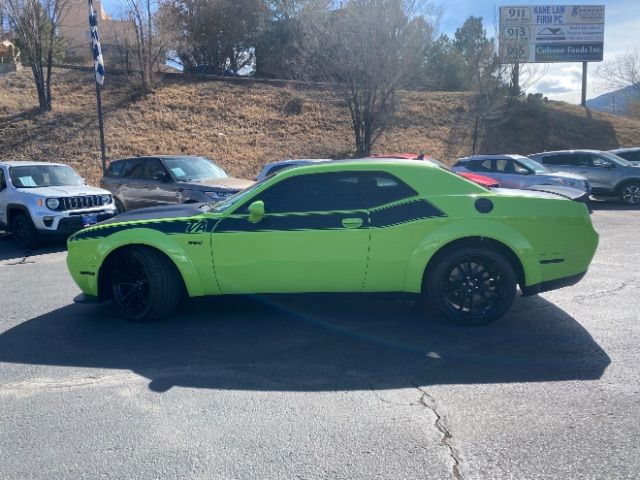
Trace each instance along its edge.
<instances>
[{"instance_id":1,"label":"rear black wheel and tire of the green coupe, at right","mask_svg":"<svg viewBox=\"0 0 640 480\"><path fill-rule=\"evenodd\" d=\"M434 259L425 289L431 304L452 322L486 325L502 317L516 295L516 274L499 252L469 246Z\"/></svg>"}]
</instances>

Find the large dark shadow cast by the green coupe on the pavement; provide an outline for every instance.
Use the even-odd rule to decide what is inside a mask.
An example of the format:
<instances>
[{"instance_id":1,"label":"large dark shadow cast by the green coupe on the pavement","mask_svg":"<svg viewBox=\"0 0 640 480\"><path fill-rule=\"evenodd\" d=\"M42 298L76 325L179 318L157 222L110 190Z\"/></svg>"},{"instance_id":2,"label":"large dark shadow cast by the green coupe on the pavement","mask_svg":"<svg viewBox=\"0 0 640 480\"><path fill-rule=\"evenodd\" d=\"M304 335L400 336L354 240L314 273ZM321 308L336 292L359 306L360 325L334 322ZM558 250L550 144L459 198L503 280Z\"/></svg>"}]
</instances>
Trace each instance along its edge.
<instances>
[{"instance_id":1,"label":"large dark shadow cast by the green coupe on the pavement","mask_svg":"<svg viewBox=\"0 0 640 480\"><path fill-rule=\"evenodd\" d=\"M209 298L133 324L110 304L69 305L0 335L0 362L132 370L149 388L290 391L599 378L607 354L541 297L498 322L452 325L369 295Z\"/></svg>"}]
</instances>

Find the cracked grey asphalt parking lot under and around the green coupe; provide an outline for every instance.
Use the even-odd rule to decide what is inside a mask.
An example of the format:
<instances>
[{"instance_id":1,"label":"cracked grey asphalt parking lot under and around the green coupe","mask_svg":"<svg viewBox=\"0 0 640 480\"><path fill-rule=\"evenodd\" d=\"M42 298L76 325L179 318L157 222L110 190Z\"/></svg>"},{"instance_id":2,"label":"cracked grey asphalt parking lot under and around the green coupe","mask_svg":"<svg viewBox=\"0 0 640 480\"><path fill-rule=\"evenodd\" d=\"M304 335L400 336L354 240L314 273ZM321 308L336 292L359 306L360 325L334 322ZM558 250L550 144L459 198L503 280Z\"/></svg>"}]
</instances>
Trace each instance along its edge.
<instances>
[{"instance_id":1,"label":"cracked grey asphalt parking lot under and around the green coupe","mask_svg":"<svg viewBox=\"0 0 640 480\"><path fill-rule=\"evenodd\" d=\"M131 324L0 234L0 478L638 478L640 209L592 217L587 277L481 328L341 295Z\"/></svg>"}]
</instances>

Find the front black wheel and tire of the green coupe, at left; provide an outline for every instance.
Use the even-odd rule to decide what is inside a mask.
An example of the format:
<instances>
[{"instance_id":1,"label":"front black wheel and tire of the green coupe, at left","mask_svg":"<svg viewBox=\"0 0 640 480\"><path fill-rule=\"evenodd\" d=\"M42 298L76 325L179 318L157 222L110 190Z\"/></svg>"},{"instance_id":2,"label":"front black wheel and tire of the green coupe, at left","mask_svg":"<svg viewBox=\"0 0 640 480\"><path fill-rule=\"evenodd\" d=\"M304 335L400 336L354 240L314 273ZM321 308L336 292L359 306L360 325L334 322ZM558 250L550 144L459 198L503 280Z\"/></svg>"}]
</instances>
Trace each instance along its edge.
<instances>
[{"instance_id":1,"label":"front black wheel and tire of the green coupe, at left","mask_svg":"<svg viewBox=\"0 0 640 480\"><path fill-rule=\"evenodd\" d=\"M129 247L111 266L109 287L116 308L134 322L171 314L182 299L184 284L171 260L147 247Z\"/></svg>"}]
</instances>

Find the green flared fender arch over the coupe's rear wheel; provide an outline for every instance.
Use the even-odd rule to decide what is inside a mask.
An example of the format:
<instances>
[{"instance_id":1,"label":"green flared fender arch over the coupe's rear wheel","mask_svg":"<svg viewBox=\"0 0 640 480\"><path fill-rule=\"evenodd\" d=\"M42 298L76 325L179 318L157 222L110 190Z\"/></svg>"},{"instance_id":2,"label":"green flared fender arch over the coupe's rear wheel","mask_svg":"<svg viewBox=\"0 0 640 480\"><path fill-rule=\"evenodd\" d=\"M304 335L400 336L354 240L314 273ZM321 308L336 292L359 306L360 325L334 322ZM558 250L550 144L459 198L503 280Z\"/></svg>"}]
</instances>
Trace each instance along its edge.
<instances>
[{"instance_id":1,"label":"green flared fender arch over the coupe's rear wheel","mask_svg":"<svg viewBox=\"0 0 640 480\"><path fill-rule=\"evenodd\" d=\"M529 241L517 230L497 220L465 220L451 222L426 236L411 254L405 276L405 291L421 292L425 269L433 256L443 247L470 237L489 238L504 244L522 264L525 285L541 281L538 255Z\"/></svg>"}]
</instances>

